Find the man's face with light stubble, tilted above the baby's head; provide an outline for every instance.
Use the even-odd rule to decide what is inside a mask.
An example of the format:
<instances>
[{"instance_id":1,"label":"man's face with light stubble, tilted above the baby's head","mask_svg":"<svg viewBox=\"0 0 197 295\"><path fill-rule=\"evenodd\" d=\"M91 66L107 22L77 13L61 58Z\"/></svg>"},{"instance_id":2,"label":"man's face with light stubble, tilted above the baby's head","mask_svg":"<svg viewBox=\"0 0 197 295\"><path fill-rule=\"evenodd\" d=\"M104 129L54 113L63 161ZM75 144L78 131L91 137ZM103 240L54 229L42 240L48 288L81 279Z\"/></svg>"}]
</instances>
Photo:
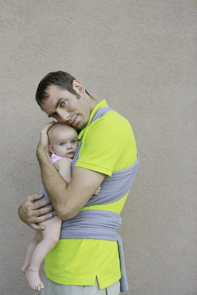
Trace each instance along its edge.
<instances>
[{"instance_id":1,"label":"man's face with light stubble, tilted above the baby's head","mask_svg":"<svg viewBox=\"0 0 197 295\"><path fill-rule=\"evenodd\" d=\"M71 125L79 130L88 124L91 104L82 95L83 93L79 91L80 98L78 99L76 95L56 85L49 86L47 91L49 98L41 103L41 109L49 118L56 118L58 122Z\"/></svg>"}]
</instances>

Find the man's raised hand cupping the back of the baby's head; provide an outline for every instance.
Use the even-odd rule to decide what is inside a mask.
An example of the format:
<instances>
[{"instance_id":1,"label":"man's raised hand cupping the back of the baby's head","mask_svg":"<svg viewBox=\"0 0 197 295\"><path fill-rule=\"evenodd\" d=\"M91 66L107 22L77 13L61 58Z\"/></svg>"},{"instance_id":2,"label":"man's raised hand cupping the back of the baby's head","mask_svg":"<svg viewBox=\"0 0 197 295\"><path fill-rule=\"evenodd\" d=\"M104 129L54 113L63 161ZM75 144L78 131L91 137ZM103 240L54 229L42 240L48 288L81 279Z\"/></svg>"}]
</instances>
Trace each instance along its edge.
<instances>
[{"instance_id":1,"label":"man's raised hand cupping the back of the baby's head","mask_svg":"<svg viewBox=\"0 0 197 295\"><path fill-rule=\"evenodd\" d=\"M55 124L55 121L47 123L44 128L40 131L40 140L36 150L36 157L39 159L42 158L42 155L47 153L49 154L49 139L47 132Z\"/></svg>"}]
</instances>

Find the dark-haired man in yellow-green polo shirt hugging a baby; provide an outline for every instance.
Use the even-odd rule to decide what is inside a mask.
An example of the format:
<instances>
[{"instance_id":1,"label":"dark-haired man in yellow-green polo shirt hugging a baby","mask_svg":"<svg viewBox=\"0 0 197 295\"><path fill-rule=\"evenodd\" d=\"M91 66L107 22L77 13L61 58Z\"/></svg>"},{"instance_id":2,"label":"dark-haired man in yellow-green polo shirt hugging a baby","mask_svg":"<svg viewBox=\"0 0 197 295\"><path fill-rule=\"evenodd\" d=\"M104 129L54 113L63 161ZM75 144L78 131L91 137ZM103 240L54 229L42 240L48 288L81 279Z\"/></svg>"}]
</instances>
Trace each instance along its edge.
<instances>
[{"instance_id":1,"label":"dark-haired man in yellow-green polo shirt hugging a baby","mask_svg":"<svg viewBox=\"0 0 197 295\"><path fill-rule=\"evenodd\" d=\"M76 128L79 142L83 138L79 158L67 184L49 157L47 131L54 122L47 123L40 132L36 155L43 185L58 217L69 220L81 210L93 209L120 214L129 191L109 204L85 205L105 177L136 162L137 149L128 120L110 110L91 124L97 111L107 106L106 101L98 102L79 81L62 71L46 75L40 81L35 97L49 118ZM33 204L42 197L29 196L19 207L21 220L36 230L44 230L37 223L53 217L44 215L52 211L52 207L44 207L51 204L49 200ZM116 241L60 239L46 256L44 269L42 295L118 295L120 292L121 269Z\"/></svg>"}]
</instances>

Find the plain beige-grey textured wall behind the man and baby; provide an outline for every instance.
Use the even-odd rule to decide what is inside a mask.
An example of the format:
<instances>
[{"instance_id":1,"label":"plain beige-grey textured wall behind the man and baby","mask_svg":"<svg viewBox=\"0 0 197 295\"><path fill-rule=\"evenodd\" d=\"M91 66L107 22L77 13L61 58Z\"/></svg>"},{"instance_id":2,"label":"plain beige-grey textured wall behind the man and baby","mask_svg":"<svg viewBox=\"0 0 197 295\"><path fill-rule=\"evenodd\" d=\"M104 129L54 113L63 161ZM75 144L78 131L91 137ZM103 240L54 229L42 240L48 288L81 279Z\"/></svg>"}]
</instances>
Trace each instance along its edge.
<instances>
[{"instance_id":1,"label":"plain beige-grey textured wall behind the man and baby","mask_svg":"<svg viewBox=\"0 0 197 295\"><path fill-rule=\"evenodd\" d=\"M34 94L65 70L131 122L140 167L122 212L129 295L197 294L197 1L0 0L0 294L33 230L17 214L41 184L48 121Z\"/></svg>"}]
</instances>

